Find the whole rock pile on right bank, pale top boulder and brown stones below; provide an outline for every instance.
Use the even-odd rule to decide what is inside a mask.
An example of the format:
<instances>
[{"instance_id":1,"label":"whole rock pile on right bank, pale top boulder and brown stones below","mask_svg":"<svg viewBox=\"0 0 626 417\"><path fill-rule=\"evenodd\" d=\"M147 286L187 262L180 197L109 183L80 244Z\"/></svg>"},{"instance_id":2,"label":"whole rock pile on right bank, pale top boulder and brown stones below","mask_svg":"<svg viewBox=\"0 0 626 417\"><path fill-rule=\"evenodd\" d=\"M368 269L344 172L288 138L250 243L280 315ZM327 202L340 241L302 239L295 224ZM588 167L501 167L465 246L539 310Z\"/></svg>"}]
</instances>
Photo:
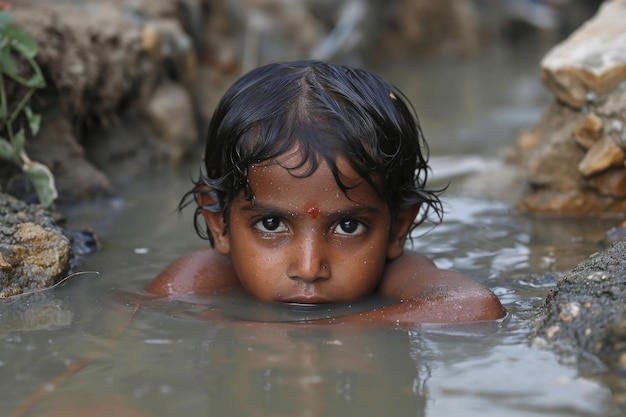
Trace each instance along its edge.
<instances>
[{"instance_id":1,"label":"whole rock pile on right bank, pale top boulder and brown stones below","mask_svg":"<svg viewBox=\"0 0 626 417\"><path fill-rule=\"evenodd\" d=\"M528 188L517 209L623 215L626 38L616 33L618 27L626 34L626 0L607 1L591 21L542 61L544 81L556 100L532 133L518 139L519 155L513 160L525 169ZM624 42L615 46L613 38ZM618 53L605 44L615 46ZM597 45L601 47L594 49Z\"/></svg>"}]
</instances>

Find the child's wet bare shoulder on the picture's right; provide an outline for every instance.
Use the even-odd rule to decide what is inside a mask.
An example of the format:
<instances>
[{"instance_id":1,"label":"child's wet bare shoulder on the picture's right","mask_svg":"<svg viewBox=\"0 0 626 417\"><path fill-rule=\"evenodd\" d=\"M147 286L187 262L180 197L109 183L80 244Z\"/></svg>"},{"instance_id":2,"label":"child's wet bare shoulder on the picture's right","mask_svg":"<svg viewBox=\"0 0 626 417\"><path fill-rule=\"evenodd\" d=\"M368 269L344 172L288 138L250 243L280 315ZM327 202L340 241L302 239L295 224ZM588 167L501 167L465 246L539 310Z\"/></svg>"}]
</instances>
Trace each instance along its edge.
<instances>
[{"instance_id":1,"label":"child's wet bare shoulder on the picture's right","mask_svg":"<svg viewBox=\"0 0 626 417\"><path fill-rule=\"evenodd\" d=\"M389 263L380 291L407 307L412 305L416 313L427 312L437 322L494 320L506 314L487 287L466 275L440 269L413 251Z\"/></svg>"}]
</instances>

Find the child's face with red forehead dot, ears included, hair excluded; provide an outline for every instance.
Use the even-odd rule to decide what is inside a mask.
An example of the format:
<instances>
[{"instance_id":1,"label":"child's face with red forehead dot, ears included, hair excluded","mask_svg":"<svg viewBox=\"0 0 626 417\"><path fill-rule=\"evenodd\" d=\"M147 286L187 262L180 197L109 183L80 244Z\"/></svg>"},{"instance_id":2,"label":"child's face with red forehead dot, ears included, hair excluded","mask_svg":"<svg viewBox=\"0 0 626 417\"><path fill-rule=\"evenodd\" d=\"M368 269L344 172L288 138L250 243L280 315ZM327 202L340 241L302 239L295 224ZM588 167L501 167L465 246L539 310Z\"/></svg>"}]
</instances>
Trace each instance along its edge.
<instances>
[{"instance_id":1,"label":"child's face with red forehead dot, ears included, hair excluded","mask_svg":"<svg viewBox=\"0 0 626 417\"><path fill-rule=\"evenodd\" d=\"M354 187L348 196L326 162L298 178L307 166L284 168L296 166L297 152L250 166L254 204L243 192L233 199L225 235L221 213L205 212L215 249L230 256L242 286L260 300L324 303L370 294L387 260L402 253L410 222L392 224L387 204L342 157L342 182Z\"/></svg>"}]
</instances>

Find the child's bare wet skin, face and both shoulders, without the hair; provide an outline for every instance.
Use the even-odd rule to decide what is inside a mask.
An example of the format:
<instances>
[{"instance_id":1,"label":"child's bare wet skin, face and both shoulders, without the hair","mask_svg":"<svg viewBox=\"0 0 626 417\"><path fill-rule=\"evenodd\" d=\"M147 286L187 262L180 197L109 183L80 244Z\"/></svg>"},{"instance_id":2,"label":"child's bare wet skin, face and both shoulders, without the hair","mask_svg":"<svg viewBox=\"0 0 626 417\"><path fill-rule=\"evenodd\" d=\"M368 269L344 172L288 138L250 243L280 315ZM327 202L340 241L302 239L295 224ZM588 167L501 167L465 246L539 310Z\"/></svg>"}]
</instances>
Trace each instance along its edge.
<instances>
[{"instance_id":1,"label":"child's bare wet skin, face and both shoulders, without the hair","mask_svg":"<svg viewBox=\"0 0 626 417\"><path fill-rule=\"evenodd\" d=\"M222 213L204 211L215 248L168 267L147 291L178 296L243 287L263 301L354 301L380 291L398 303L334 321L415 324L492 320L505 312L491 291L404 250L418 207L392 216L387 204L342 157L347 194L325 162L308 177L296 151L249 168L254 203L233 199ZM210 203L202 196L199 203Z\"/></svg>"}]
</instances>

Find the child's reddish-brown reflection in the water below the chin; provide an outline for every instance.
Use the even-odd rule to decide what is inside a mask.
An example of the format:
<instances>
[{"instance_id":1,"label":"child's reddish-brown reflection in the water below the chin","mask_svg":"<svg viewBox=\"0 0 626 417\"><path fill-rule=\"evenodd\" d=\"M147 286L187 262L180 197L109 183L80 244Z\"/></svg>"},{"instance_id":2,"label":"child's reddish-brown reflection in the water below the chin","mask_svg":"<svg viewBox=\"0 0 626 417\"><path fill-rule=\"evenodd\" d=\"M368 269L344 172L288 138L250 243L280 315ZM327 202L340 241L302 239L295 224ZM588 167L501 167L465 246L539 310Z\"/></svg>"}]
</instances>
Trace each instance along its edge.
<instances>
[{"instance_id":1,"label":"child's reddish-brown reflection in the water below the chin","mask_svg":"<svg viewBox=\"0 0 626 417\"><path fill-rule=\"evenodd\" d=\"M419 363L418 337L392 329L242 322L202 344L197 373L212 415L423 416L428 368Z\"/></svg>"}]
</instances>

